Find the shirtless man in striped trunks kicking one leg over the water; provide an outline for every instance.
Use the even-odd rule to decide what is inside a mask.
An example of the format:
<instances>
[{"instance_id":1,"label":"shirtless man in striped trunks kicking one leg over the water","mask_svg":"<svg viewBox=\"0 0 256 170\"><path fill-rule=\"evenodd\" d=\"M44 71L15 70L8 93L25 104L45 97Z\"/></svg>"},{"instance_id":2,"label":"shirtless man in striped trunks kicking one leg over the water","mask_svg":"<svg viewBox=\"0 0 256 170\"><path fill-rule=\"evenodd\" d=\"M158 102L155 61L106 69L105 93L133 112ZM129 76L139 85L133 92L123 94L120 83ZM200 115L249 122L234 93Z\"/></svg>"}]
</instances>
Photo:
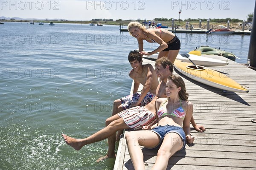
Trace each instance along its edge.
<instances>
[{"instance_id":1,"label":"shirtless man in striped trunks kicking one leg over the water","mask_svg":"<svg viewBox=\"0 0 256 170\"><path fill-rule=\"evenodd\" d=\"M98 161L106 158L114 158L115 155L115 135L116 131L124 129L141 129L143 126L152 126L157 123L157 111L155 108L155 102L158 98L166 97L166 82L167 78L172 75L173 65L167 57L157 59L155 63L155 70L157 76L160 77L161 82L157 87L156 96L146 106L137 106L134 108L122 111L114 116L111 116L106 120L106 126L102 130L94 133L93 135L84 139L75 139L70 136L61 134L65 142L73 147L75 150L80 150L84 145L99 142L104 139L111 141L108 143L108 153L106 156L98 159ZM198 126L193 117L191 118L191 124L195 130L202 132L205 131L203 126Z\"/></svg>"}]
</instances>

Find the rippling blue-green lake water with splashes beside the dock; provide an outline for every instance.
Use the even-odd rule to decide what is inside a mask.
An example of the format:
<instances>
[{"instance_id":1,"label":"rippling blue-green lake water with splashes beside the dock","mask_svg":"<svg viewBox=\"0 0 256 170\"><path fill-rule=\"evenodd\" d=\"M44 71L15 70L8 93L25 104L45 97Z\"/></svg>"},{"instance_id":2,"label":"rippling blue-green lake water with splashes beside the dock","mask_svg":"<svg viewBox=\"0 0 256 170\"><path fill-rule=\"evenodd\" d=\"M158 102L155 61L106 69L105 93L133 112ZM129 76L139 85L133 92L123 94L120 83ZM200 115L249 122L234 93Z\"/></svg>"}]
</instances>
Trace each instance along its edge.
<instances>
[{"instance_id":1,"label":"rippling blue-green lake water with splashes beside the dock","mask_svg":"<svg viewBox=\"0 0 256 170\"><path fill-rule=\"evenodd\" d=\"M247 61L250 35L176 35L180 53L209 45ZM107 140L76 151L61 133L84 138L105 127L113 101L130 92L137 40L119 26L84 24L6 22L0 36L0 169L112 170L114 159L96 163Z\"/></svg>"}]
</instances>

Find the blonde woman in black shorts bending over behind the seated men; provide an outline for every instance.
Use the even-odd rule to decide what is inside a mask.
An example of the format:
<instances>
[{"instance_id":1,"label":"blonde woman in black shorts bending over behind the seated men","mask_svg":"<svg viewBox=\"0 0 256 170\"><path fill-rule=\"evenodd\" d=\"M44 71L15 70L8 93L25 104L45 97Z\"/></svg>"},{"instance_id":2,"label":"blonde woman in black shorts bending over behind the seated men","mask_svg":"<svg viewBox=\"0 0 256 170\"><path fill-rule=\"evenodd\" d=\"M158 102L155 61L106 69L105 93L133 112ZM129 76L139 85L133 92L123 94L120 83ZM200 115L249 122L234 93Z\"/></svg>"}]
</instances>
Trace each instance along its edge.
<instances>
[{"instance_id":1,"label":"blonde woman in black shorts bending over behind the seated men","mask_svg":"<svg viewBox=\"0 0 256 170\"><path fill-rule=\"evenodd\" d=\"M180 51L180 40L175 34L161 28L146 29L145 26L141 25L139 22L129 23L128 31L133 37L137 38L140 54L152 55L159 52L157 59L166 56L174 63ZM147 42L157 42L160 46L151 52L143 51L143 40Z\"/></svg>"}]
</instances>

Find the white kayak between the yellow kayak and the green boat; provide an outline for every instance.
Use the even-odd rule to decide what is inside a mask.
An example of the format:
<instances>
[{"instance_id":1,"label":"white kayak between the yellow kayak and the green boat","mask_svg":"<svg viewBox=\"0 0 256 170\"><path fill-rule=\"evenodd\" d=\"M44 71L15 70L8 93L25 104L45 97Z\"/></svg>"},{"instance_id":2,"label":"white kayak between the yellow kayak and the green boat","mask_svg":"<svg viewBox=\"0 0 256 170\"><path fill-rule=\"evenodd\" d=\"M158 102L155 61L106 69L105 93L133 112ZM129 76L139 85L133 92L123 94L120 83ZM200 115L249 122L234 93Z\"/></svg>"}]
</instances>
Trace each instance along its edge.
<instances>
[{"instance_id":1,"label":"white kayak between the yellow kayak and the green boat","mask_svg":"<svg viewBox=\"0 0 256 170\"><path fill-rule=\"evenodd\" d=\"M158 54L152 54L151 56L148 56L148 55L144 55L144 56L151 58L151 59L157 59ZM198 56L198 55L194 55L194 54L189 54L189 59L187 59L186 57L182 57L180 54L178 54L176 59L184 61L184 62L190 62L189 59L191 59L196 65L202 65L202 66L228 65L228 60L226 62L224 62L219 59L212 59L212 58L204 57L203 55Z\"/></svg>"}]
</instances>

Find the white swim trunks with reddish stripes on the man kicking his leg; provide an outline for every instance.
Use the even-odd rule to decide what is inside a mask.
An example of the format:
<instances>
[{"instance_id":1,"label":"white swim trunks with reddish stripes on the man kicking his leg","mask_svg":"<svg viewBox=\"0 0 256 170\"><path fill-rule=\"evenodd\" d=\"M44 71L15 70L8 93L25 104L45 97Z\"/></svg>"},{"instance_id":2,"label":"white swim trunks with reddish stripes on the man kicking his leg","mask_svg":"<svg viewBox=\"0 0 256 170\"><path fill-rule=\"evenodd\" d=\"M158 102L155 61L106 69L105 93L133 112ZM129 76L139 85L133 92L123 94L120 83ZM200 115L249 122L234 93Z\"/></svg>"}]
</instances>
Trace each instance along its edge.
<instances>
[{"instance_id":1,"label":"white swim trunks with reddish stripes on the man kicking his leg","mask_svg":"<svg viewBox=\"0 0 256 170\"><path fill-rule=\"evenodd\" d=\"M143 126L152 126L157 123L157 116L143 106L137 106L118 113L125 124L132 129L141 129Z\"/></svg>"}]
</instances>

